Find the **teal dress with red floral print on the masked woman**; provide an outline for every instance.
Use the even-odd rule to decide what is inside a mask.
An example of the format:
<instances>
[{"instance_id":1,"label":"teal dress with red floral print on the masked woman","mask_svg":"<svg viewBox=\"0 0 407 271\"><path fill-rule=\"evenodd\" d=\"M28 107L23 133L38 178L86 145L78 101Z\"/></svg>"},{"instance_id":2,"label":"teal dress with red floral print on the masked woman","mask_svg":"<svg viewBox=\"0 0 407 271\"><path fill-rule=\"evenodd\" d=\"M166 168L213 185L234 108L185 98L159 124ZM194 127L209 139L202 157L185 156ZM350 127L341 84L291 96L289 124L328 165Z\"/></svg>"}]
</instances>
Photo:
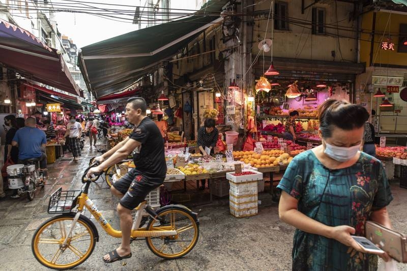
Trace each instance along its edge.
<instances>
[{"instance_id":1,"label":"teal dress with red floral print on the masked woman","mask_svg":"<svg viewBox=\"0 0 407 271\"><path fill-rule=\"evenodd\" d=\"M298 199L298 210L329 226L348 225L365 236L372 211L389 205L393 196L379 160L361 153L346 168L330 170L312 150L289 163L278 188ZM334 239L299 229L294 235L293 270L376 270L377 256L363 254Z\"/></svg>"}]
</instances>

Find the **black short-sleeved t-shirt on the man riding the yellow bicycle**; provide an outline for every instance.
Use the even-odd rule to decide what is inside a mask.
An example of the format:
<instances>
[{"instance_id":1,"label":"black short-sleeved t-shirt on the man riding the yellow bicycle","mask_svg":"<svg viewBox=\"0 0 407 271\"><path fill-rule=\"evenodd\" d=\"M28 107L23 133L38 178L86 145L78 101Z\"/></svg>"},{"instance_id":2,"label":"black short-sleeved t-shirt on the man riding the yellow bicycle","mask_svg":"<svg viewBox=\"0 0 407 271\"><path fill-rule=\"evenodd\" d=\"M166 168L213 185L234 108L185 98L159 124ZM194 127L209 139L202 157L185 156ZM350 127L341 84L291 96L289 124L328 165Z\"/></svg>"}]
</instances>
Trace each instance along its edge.
<instances>
[{"instance_id":1,"label":"black short-sleeved t-shirt on the man riding the yellow bicycle","mask_svg":"<svg viewBox=\"0 0 407 271\"><path fill-rule=\"evenodd\" d=\"M157 125L150 118L144 118L133 129L130 139L141 143L133 151L136 172L153 181L163 182L167 172L164 155L164 141Z\"/></svg>"}]
</instances>

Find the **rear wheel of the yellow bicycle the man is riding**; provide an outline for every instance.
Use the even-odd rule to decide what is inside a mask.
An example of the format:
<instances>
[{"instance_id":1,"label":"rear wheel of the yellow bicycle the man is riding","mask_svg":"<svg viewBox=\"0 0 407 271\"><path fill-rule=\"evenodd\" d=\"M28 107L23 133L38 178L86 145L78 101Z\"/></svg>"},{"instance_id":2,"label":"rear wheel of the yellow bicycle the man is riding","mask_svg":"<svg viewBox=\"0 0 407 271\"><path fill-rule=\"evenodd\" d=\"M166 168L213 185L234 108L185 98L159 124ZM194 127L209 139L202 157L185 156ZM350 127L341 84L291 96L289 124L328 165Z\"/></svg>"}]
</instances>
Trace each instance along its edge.
<instances>
[{"instance_id":1,"label":"rear wheel of the yellow bicycle the man is riding","mask_svg":"<svg viewBox=\"0 0 407 271\"><path fill-rule=\"evenodd\" d=\"M199 238L199 226L190 213L182 208L174 207L158 210L157 214L164 221L159 226L170 226L173 230L177 230L177 235L147 237L146 242L149 249L164 259L178 259L188 254ZM147 230L153 230L155 223L159 223L158 220L150 219Z\"/></svg>"}]
</instances>

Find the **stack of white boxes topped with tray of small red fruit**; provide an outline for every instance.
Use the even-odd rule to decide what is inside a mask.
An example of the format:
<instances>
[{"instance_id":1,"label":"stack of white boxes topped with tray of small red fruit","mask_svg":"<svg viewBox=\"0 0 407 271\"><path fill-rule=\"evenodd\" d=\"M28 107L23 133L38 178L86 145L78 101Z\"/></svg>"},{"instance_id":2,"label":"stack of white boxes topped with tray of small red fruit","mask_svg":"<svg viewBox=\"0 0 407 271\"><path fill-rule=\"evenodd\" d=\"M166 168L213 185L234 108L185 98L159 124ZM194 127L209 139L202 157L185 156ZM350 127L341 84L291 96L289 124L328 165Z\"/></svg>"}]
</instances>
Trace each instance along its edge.
<instances>
[{"instance_id":1,"label":"stack of white boxes topped with tray of small red fruit","mask_svg":"<svg viewBox=\"0 0 407 271\"><path fill-rule=\"evenodd\" d=\"M229 208L235 217L257 215L257 181L263 180L263 173L253 170L242 173L226 173L229 180Z\"/></svg>"}]
</instances>

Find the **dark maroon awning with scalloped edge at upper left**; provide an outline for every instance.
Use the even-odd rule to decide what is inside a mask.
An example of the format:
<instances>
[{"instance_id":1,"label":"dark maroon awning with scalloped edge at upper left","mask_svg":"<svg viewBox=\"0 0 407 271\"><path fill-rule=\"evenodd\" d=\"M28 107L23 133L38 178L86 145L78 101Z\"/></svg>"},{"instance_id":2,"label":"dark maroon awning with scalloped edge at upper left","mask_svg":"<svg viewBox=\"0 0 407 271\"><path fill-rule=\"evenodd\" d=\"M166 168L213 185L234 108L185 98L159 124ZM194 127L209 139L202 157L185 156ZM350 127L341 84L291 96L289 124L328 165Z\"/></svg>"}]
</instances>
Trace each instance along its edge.
<instances>
[{"instance_id":1,"label":"dark maroon awning with scalloped edge at upper left","mask_svg":"<svg viewBox=\"0 0 407 271\"><path fill-rule=\"evenodd\" d=\"M80 95L61 53L32 33L0 19L0 62L22 76Z\"/></svg>"}]
</instances>

